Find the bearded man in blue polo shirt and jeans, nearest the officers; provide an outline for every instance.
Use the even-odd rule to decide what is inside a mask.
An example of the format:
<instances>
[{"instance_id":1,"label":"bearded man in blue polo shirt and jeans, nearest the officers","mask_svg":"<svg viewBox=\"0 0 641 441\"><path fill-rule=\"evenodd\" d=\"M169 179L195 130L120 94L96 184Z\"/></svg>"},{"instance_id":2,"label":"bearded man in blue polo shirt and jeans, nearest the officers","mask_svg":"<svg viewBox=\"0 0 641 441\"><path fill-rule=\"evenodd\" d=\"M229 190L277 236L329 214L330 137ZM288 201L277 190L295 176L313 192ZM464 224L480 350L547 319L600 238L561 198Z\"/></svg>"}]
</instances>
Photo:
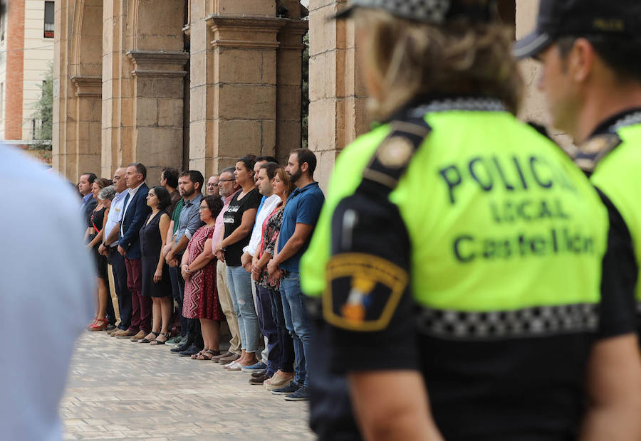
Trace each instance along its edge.
<instances>
[{"instance_id":1,"label":"bearded man in blue polo shirt and jeans, nearest the officers","mask_svg":"<svg viewBox=\"0 0 641 441\"><path fill-rule=\"evenodd\" d=\"M298 265L309 246L309 240L318 221L325 196L314 181L316 155L309 149L296 149L289 155L285 170L296 184L296 190L287 198L283 223L278 235L276 255L267 265L269 275L281 271L281 296L285 309L285 323L294 340L296 376L283 388L272 390L275 395L286 395L289 401L308 400L306 360L311 344L311 319L303 304Z\"/></svg>"}]
</instances>

